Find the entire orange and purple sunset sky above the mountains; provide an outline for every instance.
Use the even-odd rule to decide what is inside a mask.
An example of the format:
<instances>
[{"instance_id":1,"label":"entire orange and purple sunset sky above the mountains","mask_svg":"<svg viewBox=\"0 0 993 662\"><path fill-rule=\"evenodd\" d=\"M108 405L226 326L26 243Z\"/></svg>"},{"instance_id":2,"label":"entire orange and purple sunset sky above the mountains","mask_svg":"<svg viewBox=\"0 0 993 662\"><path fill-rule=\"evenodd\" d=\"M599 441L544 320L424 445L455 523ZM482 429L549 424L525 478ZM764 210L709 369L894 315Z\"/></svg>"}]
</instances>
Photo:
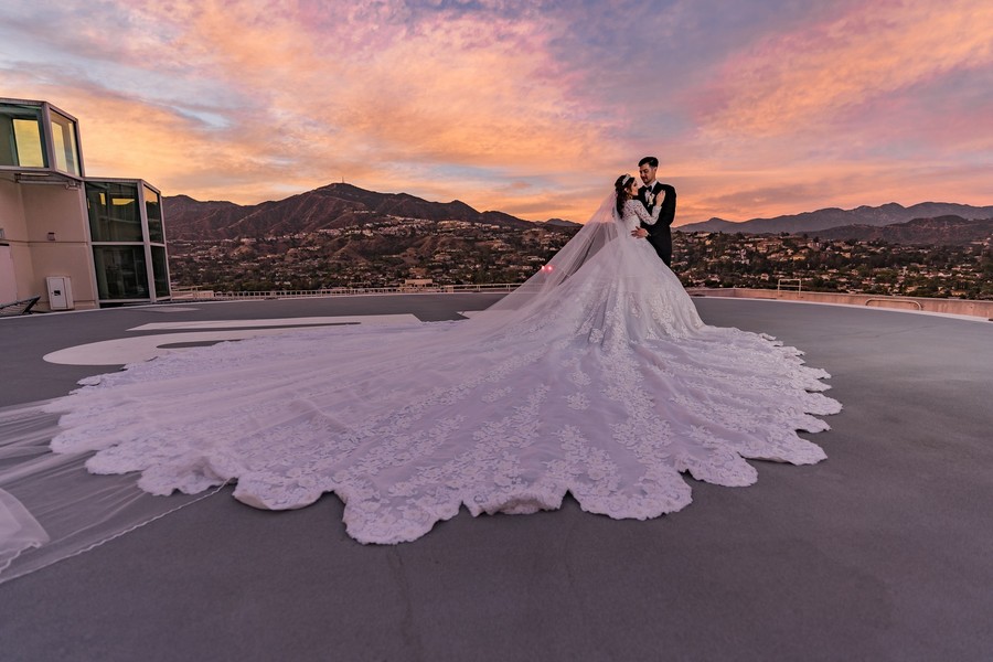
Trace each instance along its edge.
<instances>
[{"instance_id":1,"label":"entire orange and purple sunset sky above the mountains","mask_svg":"<svg viewBox=\"0 0 993 662\"><path fill-rule=\"evenodd\" d=\"M993 204L991 35L990 0L4 0L0 97L166 195L581 222L655 154L679 225Z\"/></svg>"}]
</instances>

